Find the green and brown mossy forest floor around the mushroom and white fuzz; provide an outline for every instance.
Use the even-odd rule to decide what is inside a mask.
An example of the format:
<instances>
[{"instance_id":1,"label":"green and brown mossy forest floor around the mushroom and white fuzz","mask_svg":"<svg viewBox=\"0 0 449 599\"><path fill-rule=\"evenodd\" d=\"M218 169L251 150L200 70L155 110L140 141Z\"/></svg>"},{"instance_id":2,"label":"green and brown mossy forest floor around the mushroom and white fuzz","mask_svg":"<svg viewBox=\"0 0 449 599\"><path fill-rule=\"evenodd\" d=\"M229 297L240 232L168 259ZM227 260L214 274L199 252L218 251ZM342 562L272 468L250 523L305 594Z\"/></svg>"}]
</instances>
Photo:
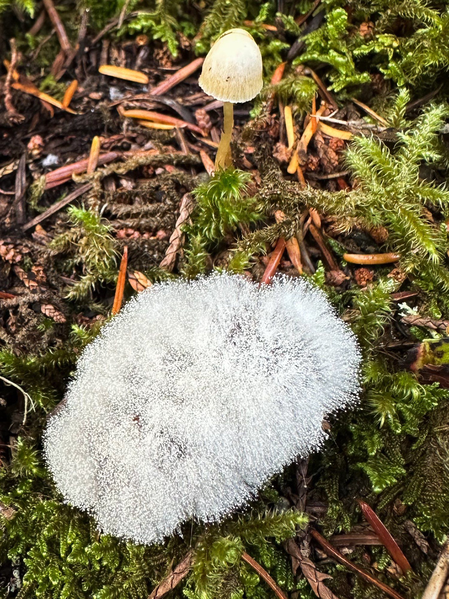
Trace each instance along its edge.
<instances>
[{"instance_id":1,"label":"green and brown mossy forest floor around the mushroom and white fuzz","mask_svg":"<svg viewBox=\"0 0 449 599\"><path fill-rule=\"evenodd\" d=\"M315 596L310 583L301 568L293 572L284 543L293 538L315 568L332 576L324 582L339 599L379 597L375 586L324 559L309 534L310 527L317 528L335 544L349 531L363 536L367 525L357 503L363 498L398 540L413 571L402 576L376 544L347 544L348 557L403 597L419 597L449 527L447 2L326 0L301 25L313 8L307 0L62 2L57 10L73 45L83 15L89 19L82 52L59 80L50 75L59 52L50 22L29 33L41 8L32 0L0 0L3 58L11 58L8 40L14 37L21 55L16 68L58 98L77 78L82 89L73 105L81 114L56 111L50 119L37 99L14 92L14 106L24 118L13 123L6 110L0 116L0 189L17 189L19 159L28 146L25 216L31 219L73 189L68 183L42 193L41 176L49 170L42 159L48 154L57 156L57 166L74 162L88 154L93 135L104 138L105 151L155 151L117 159L94 176L75 176L92 189L69 210L45 219L43 229L23 232L14 196L0 190L0 290L14 296L0 300L1 374L31 398L23 423L25 396L8 385L2 389L2 595L144 598L193 547L193 568L174 595L271 597L271 589L242 561L245 550L292 599L310 599ZM114 26L94 41L108 23ZM172 132L124 126L110 80L96 68L106 52L110 61L147 71L151 87L195 54L204 55L233 26L245 26L259 44L265 87L236 113L238 170L209 180L198 148L210 152L210 147L185 130L183 151ZM138 35L147 38L136 41ZM284 60L284 77L272 85ZM301 135L314 94L324 93L310 69L338 107L330 118L348 123L343 128L354 135L349 143L315 135L302 156L309 183L304 187L287 174L281 114L284 105L292 106ZM5 89L5 77L2 83ZM126 95L142 93L118 80L114 87ZM192 78L167 96L191 116L205 103ZM168 110L161 104L155 109ZM219 129L220 111L207 114ZM187 192L193 193L195 210L184 226L183 255L167 273L158 265ZM320 216L327 254L308 229L310 208ZM285 215L278 223L277 210ZM151 547L102 535L92 519L63 503L42 461L41 434L81 349L110 316L123 247L129 247L129 272L151 282L212 268L259 280L271 244L293 235L300 242L303 276L326 291L360 340L359 408L329 418L321 452L287 468L251 509L219 526L188 522L182 534ZM365 270L343 258L378 252L401 258ZM298 276L287 255L280 270ZM126 285L130 297L135 287ZM53 311L43 309L48 305ZM63 320L55 318L55 310ZM408 316L416 317L412 324Z\"/></svg>"}]
</instances>

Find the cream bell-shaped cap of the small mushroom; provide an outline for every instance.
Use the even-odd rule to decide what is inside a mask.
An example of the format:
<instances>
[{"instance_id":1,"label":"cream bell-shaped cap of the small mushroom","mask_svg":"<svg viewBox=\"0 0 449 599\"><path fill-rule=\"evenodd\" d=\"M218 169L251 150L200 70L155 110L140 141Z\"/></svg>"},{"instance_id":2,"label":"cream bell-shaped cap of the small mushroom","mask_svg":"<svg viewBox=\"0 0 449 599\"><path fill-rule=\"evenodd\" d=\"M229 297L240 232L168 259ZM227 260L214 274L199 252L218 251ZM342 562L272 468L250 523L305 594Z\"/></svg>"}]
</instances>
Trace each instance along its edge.
<instances>
[{"instance_id":1,"label":"cream bell-shaped cap of the small mushroom","mask_svg":"<svg viewBox=\"0 0 449 599\"><path fill-rule=\"evenodd\" d=\"M262 56L244 29L220 35L206 56L199 86L223 102L247 102L262 89Z\"/></svg>"}]
</instances>

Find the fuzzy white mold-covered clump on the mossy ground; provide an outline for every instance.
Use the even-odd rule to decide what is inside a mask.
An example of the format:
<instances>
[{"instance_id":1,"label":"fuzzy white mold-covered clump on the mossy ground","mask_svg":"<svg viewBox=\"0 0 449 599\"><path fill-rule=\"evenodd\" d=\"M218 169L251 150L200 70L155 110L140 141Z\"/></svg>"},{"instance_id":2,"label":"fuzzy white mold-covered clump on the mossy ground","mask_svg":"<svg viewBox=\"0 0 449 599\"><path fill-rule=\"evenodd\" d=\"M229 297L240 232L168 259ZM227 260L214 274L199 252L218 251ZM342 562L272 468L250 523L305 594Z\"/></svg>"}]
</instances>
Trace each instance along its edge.
<instances>
[{"instance_id":1,"label":"fuzzy white mold-covered clump on the mossy ground","mask_svg":"<svg viewBox=\"0 0 449 599\"><path fill-rule=\"evenodd\" d=\"M324 294L227 274L154 285L84 351L48 467L105 533L152 543L219 521L357 400L360 355Z\"/></svg>"}]
</instances>

